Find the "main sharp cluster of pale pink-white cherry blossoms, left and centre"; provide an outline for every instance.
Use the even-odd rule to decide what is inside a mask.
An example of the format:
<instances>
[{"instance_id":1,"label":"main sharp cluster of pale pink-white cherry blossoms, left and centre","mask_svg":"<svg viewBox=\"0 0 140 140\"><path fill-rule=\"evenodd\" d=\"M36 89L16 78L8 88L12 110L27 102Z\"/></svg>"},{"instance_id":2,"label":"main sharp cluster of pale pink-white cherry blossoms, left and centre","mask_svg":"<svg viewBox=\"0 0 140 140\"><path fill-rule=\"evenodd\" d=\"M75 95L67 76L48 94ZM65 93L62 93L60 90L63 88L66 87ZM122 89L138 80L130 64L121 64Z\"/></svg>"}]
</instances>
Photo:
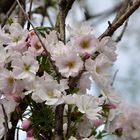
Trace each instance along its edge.
<instances>
[{"instance_id":1,"label":"main sharp cluster of pale pink-white cherry blossoms, left and centre","mask_svg":"<svg viewBox=\"0 0 140 140\"><path fill-rule=\"evenodd\" d=\"M94 136L92 129L107 119L105 109L115 110L119 103L109 75L117 58L116 44L110 37L96 38L87 23L76 28L68 26L68 31L70 39L63 43L54 30L38 33L38 37L34 30L23 29L18 23L0 29L0 104L4 103L8 118L28 95L36 103L54 108L65 104L64 113L70 105L83 120L76 124L77 137L93 140L99 135ZM91 79L101 89L101 96L88 94ZM0 116L2 138L2 111ZM10 125L10 119L8 122ZM77 139L76 135L69 139Z\"/></svg>"}]
</instances>

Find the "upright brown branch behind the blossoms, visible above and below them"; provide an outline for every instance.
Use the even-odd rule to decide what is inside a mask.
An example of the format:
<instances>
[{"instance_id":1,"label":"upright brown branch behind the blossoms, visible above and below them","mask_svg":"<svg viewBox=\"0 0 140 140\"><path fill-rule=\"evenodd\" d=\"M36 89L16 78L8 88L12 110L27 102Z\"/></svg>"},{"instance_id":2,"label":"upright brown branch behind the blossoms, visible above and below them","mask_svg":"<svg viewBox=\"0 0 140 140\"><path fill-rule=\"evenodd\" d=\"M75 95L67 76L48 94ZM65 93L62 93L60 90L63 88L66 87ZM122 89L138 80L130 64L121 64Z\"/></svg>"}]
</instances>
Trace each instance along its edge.
<instances>
[{"instance_id":1,"label":"upright brown branch behind the blossoms, visible above and below them","mask_svg":"<svg viewBox=\"0 0 140 140\"><path fill-rule=\"evenodd\" d=\"M57 30L60 33L60 39L65 43L65 19L71 9L74 0L60 0L58 21L56 22ZM55 109L55 140L63 140L63 112L65 104L56 106Z\"/></svg>"}]
</instances>

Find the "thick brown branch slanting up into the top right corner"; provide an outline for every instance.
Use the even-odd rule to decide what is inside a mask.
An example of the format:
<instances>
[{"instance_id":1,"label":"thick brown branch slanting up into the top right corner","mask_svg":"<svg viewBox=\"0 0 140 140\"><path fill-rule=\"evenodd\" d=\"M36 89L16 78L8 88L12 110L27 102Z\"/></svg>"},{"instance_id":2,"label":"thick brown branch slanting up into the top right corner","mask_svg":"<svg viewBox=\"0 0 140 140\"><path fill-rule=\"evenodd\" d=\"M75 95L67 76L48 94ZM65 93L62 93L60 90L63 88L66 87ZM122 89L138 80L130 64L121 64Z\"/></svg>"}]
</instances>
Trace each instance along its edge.
<instances>
[{"instance_id":1,"label":"thick brown branch slanting up into the top right corner","mask_svg":"<svg viewBox=\"0 0 140 140\"><path fill-rule=\"evenodd\" d=\"M101 40L105 36L112 36L113 33L139 8L140 0L136 0L126 12L114 23L111 27L108 27L106 31L99 37Z\"/></svg>"}]
</instances>

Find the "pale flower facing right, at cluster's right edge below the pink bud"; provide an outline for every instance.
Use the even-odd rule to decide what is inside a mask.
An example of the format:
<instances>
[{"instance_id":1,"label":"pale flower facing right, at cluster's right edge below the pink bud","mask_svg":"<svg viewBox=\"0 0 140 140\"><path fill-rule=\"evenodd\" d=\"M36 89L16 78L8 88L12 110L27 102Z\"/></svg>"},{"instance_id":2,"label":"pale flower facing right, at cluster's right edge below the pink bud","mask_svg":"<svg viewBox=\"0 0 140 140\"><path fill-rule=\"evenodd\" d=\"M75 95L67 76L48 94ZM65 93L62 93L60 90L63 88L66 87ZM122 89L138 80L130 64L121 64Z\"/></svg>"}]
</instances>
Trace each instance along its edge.
<instances>
[{"instance_id":1,"label":"pale flower facing right, at cluster's right edge below the pink bud","mask_svg":"<svg viewBox=\"0 0 140 140\"><path fill-rule=\"evenodd\" d=\"M98 55L95 60L86 60L86 69L92 74L93 80L103 91L108 91L111 88L108 73L112 64L104 54Z\"/></svg>"}]
</instances>

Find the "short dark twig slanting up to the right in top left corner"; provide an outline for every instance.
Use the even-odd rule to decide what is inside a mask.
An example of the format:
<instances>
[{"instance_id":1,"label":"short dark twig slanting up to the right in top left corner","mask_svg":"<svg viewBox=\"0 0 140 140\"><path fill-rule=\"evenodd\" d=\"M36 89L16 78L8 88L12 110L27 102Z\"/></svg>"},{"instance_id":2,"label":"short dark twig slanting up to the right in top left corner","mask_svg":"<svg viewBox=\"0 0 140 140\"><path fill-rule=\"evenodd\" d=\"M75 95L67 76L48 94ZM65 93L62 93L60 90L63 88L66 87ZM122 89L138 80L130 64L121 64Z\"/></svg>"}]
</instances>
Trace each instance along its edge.
<instances>
[{"instance_id":1,"label":"short dark twig slanting up to the right in top left corner","mask_svg":"<svg viewBox=\"0 0 140 140\"><path fill-rule=\"evenodd\" d=\"M10 7L9 11L6 13L5 18L1 24L1 27L3 27L5 25L5 23L7 22L9 16L13 13L14 9L16 8L16 1L14 1L14 3L12 4L12 6Z\"/></svg>"}]
</instances>

